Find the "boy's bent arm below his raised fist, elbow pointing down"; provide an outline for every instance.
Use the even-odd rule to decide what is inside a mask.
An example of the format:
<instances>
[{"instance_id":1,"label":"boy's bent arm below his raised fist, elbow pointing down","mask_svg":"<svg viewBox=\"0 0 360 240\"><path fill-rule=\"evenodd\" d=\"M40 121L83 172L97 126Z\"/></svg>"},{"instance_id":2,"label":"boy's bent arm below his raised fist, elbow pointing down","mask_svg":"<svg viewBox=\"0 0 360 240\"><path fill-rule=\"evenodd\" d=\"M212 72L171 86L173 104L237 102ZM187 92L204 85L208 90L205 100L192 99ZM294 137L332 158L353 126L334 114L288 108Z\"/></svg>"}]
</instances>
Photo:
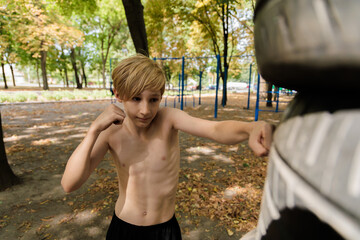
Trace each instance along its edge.
<instances>
[{"instance_id":1,"label":"boy's bent arm below his raised fist, elbow pointing down","mask_svg":"<svg viewBox=\"0 0 360 240\"><path fill-rule=\"evenodd\" d=\"M89 178L108 150L104 132L93 131L91 128L85 138L69 158L61 185L65 192L80 188Z\"/></svg>"}]
</instances>

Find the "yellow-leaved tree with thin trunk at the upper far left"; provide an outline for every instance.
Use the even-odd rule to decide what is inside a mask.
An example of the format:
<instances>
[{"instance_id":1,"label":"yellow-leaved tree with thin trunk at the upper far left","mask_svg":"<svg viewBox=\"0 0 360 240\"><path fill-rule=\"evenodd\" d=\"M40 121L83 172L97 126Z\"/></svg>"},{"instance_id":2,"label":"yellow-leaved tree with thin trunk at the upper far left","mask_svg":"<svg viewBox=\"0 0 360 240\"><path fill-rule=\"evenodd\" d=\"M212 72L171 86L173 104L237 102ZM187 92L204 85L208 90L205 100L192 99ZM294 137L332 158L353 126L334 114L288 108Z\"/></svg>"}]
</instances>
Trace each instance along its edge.
<instances>
[{"instance_id":1,"label":"yellow-leaved tree with thin trunk at the upper far left","mask_svg":"<svg viewBox=\"0 0 360 240\"><path fill-rule=\"evenodd\" d=\"M82 33L71 27L60 16L58 9L45 1L9 1L7 16L11 20L14 40L32 54L33 58L40 58L43 88L49 89L46 69L49 49L55 45L80 46L83 41Z\"/></svg>"}]
</instances>

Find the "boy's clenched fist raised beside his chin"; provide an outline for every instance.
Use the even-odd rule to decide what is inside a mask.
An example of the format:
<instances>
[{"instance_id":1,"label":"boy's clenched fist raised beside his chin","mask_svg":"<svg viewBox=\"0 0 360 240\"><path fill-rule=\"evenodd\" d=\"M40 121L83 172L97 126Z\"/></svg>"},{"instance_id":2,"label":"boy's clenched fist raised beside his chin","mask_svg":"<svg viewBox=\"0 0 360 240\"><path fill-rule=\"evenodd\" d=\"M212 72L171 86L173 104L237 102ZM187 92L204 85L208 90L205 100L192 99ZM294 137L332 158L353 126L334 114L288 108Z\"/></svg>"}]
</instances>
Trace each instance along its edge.
<instances>
[{"instance_id":1,"label":"boy's clenched fist raised beside his chin","mask_svg":"<svg viewBox=\"0 0 360 240\"><path fill-rule=\"evenodd\" d=\"M121 125L125 117L126 114L120 107L111 104L95 119L90 128L97 132L102 132L110 127L111 124Z\"/></svg>"}]
</instances>

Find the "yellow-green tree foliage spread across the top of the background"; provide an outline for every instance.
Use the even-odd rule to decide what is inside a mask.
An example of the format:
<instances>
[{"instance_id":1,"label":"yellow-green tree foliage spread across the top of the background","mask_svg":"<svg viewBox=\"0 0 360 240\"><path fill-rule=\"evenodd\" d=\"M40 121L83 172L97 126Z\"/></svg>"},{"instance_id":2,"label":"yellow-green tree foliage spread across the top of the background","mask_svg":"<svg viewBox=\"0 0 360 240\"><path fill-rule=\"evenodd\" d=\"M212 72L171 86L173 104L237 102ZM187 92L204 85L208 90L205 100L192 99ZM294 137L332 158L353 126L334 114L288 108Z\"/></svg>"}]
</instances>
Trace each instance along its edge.
<instances>
[{"instance_id":1,"label":"yellow-green tree foliage spread across the top of the background","mask_svg":"<svg viewBox=\"0 0 360 240\"><path fill-rule=\"evenodd\" d=\"M254 3L255 0L143 1L150 55L224 55L221 51L224 48L221 6L224 5L229 6L231 25L228 56L253 54ZM122 59L134 53L120 0L2 0L0 33L4 61L15 62L18 70L30 69L26 75L32 82L36 82L36 68L40 66L37 57L42 49L47 50L48 75L58 82L63 81L65 68L70 80L74 74L69 53L75 45L82 43L81 47L75 47L78 67L82 62L87 76L103 79L109 74L109 58ZM42 47L40 40L46 42ZM166 67L169 83L177 86L181 60L159 62ZM229 77L245 79L243 63L236 58L229 62ZM207 82L205 78L210 79L215 69L215 61L209 59L186 60L185 74L196 80L199 71L203 71L203 81ZM72 98L69 94L64 97Z\"/></svg>"}]
</instances>

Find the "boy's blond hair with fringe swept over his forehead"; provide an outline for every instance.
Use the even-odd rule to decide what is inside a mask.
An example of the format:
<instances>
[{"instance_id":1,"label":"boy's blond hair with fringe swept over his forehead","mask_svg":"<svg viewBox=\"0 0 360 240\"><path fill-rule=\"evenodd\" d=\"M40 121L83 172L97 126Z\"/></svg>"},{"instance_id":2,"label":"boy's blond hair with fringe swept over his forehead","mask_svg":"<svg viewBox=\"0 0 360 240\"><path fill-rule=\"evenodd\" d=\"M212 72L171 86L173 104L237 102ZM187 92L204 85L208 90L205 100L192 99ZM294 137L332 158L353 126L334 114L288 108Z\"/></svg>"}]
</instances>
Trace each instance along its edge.
<instances>
[{"instance_id":1,"label":"boy's blond hair with fringe swept over his forehead","mask_svg":"<svg viewBox=\"0 0 360 240\"><path fill-rule=\"evenodd\" d=\"M122 100L129 100L144 90L165 91L165 74L150 58L137 54L119 62L112 72L114 88Z\"/></svg>"}]
</instances>

